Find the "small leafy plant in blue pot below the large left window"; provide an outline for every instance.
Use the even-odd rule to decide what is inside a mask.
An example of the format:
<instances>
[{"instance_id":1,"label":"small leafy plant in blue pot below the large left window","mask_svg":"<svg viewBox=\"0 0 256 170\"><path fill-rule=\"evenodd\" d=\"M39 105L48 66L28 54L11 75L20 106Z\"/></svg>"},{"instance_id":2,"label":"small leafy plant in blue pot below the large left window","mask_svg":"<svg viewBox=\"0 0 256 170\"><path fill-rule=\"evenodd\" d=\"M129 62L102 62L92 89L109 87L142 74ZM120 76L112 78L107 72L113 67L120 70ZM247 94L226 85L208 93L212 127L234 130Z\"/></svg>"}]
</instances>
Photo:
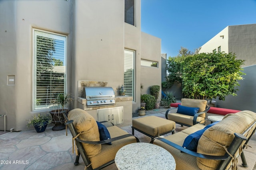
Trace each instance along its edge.
<instances>
[{"instance_id":1,"label":"small leafy plant in blue pot below the large left window","mask_svg":"<svg viewBox=\"0 0 256 170\"><path fill-rule=\"evenodd\" d=\"M30 125L33 125L36 129L37 133L44 132L47 125L49 125L52 122L51 115L48 114L35 114L32 116L32 119L27 120L27 127L30 127Z\"/></svg>"}]
</instances>

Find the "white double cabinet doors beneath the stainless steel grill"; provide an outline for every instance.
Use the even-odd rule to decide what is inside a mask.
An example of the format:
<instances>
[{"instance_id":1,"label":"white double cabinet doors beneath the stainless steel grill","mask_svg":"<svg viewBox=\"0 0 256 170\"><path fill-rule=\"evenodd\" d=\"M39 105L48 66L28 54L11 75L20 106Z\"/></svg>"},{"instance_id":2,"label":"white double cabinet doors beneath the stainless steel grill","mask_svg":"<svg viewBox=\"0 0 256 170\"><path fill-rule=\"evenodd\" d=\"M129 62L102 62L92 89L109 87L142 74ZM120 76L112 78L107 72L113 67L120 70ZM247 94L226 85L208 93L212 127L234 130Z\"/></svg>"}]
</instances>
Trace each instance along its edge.
<instances>
[{"instance_id":1,"label":"white double cabinet doors beneath the stainless steel grill","mask_svg":"<svg viewBox=\"0 0 256 170\"><path fill-rule=\"evenodd\" d=\"M109 121L114 125L123 123L123 107L97 109L98 121Z\"/></svg>"}]
</instances>

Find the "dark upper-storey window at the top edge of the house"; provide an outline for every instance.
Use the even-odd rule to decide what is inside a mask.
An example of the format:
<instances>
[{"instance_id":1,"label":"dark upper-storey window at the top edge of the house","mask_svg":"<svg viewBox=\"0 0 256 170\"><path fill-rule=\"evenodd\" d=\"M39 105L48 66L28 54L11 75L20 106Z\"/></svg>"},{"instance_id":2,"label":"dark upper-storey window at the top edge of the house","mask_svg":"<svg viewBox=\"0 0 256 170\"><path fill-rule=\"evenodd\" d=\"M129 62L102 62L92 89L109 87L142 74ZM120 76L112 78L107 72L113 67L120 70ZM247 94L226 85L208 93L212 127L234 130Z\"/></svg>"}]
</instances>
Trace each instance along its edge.
<instances>
[{"instance_id":1,"label":"dark upper-storey window at the top edge of the house","mask_svg":"<svg viewBox=\"0 0 256 170\"><path fill-rule=\"evenodd\" d=\"M124 1L124 22L135 25L134 0Z\"/></svg>"}]
</instances>

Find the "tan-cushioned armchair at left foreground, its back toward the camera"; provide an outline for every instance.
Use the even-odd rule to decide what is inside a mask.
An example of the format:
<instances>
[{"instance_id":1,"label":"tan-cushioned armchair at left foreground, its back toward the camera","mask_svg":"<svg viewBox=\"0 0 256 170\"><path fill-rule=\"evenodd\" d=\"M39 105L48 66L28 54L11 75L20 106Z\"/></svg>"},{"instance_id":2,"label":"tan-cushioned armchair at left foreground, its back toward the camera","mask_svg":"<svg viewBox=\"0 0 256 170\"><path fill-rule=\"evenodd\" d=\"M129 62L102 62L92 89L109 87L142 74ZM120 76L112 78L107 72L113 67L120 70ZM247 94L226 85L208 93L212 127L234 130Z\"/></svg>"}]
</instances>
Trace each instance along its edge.
<instances>
[{"instance_id":1,"label":"tan-cushioned armchair at left foreground, its back toward the camera","mask_svg":"<svg viewBox=\"0 0 256 170\"><path fill-rule=\"evenodd\" d=\"M79 157L85 164L85 169L88 170L100 170L112 163L116 152L123 146L130 143L140 142L134 135L128 134L119 127L110 122L102 122L102 124L111 125L104 128L104 131L108 131L110 139L101 139L98 128L98 122L86 111L82 109L73 109L68 112L62 112L66 119L66 125L70 129L72 139L76 143L76 161L75 165L79 164ZM99 125L99 127L102 126ZM107 129L107 130L106 130ZM106 133L108 136L108 133Z\"/></svg>"}]
</instances>

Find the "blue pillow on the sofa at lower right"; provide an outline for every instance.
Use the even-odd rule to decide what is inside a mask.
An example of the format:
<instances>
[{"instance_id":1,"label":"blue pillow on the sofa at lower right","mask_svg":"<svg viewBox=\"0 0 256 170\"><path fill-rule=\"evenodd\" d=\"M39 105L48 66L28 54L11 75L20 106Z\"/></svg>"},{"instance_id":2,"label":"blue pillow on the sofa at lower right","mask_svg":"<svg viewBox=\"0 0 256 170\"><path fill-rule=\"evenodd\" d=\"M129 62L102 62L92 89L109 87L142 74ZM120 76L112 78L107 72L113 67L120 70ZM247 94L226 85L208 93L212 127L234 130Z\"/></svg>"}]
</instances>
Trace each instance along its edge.
<instances>
[{"instance_id":1,"label":"blue pillow on the sofa at lower right","mask_svg":"<svg viewBox=\"0 0 256 170\"><path fill-rule=\"evenodd\" d=\"M198 141L199 141L200 137L203 135L204 131L206 131L206 129L208 129L209 127L212 127L213 125L215 125L218 122L219 121L211 123L211 124L207 125L206 127L204 127L204 129L201 129L199 131L196 131L195 133L191 133L190 135L188 135L186 137L186 139L184 140L182 147L196 152Z\"/></svg>"}]
</instances>

